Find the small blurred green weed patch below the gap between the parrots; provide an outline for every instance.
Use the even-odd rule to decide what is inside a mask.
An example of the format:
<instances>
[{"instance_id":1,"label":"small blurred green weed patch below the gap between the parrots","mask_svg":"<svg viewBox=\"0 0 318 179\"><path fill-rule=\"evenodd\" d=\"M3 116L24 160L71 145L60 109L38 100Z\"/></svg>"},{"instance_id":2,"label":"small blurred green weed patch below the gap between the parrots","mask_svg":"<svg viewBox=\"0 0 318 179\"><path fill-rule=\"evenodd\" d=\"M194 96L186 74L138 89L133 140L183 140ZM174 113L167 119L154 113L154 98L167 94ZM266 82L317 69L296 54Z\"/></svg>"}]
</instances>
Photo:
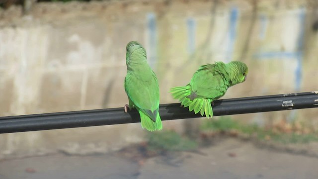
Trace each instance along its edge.
<instances>
[{"instance_id":1,"label":"small blurred green weed patch below the gap between the parrots","mask_svg":"<svg viewBox=\"0 0 318 179\"><path fill-rule=\"evenodd\" d=\"M150 150L191 151L197 148L197 143L174 131L150 132L148 134Z\"/></svg>"}]
</instances>

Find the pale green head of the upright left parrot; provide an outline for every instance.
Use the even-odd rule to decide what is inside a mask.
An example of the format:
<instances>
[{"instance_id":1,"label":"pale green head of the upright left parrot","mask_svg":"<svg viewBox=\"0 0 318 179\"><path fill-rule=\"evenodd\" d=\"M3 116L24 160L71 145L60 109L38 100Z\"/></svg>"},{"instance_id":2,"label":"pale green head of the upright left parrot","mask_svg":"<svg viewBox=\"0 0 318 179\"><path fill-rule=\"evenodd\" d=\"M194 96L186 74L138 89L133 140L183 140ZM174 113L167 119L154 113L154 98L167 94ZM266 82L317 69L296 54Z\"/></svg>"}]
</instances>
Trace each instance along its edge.
<instances>
[{"instance_id":1,"label":"pale green head of the upright left parrot","mask_svg":"<svg viewBox=\"0 0 318 179\"><path fill-rule=\"evenodd\" d=\"M146 59L146 50L145 48L137 41L130 41L126 46L126 64L128 65L131 61L131 56L136 53L140 54L142 57L141 59ZM140 59L140 58L134 58L134 59Z\"/></svg>"}]
</instances>

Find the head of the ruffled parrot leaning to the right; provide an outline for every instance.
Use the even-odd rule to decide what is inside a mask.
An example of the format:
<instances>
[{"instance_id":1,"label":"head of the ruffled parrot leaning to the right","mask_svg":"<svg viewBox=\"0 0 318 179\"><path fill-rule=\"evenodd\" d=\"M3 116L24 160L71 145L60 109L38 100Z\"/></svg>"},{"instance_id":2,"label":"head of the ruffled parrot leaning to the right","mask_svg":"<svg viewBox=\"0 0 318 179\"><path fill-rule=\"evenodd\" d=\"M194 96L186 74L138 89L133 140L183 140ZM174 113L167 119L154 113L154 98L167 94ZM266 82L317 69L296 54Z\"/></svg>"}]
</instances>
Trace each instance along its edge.
<instances>
[{"instance_id":1,"label":"head of the ruffled parrot leaning to the right","mask_svg":"<svg viewBox=\"0 0 318 179\"><path fill-rule=\"evenodd\" d=\"M229 65L235 69L235 70L233 70L234 79L232 79L232 82L234 84L239 84L239 83L244 82L246 80L247 73L248 73L248 68L247 68L246 64L244 64L243 62L239 62L239 61L232 61L229 63Z\"/></svg>"}]
</instances>

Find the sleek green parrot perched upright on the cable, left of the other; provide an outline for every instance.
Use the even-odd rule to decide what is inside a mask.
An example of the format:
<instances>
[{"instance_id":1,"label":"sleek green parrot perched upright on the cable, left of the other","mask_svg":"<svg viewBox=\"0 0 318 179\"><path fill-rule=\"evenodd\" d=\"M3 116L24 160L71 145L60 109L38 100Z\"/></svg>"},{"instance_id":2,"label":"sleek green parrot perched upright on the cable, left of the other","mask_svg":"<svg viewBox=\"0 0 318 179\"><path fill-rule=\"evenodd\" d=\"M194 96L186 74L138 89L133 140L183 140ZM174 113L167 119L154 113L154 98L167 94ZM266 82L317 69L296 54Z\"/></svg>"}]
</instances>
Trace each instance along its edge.
<instances>
[{"instance_id":1,"label":"sleek green parrot perched upright on the cable, left of the other","mask_svg":"<svg viewBox=\"0 0 318 179\"><path fill-rule=\"evenodd\" d=\"M159 115L159 85L156 74L147 63L145 48L136 41L131 41L126 47L127 75L125 91L129 105L135 107L140 114L141 126L149 131L161 130Z\"/></svg>"}]
</instances>

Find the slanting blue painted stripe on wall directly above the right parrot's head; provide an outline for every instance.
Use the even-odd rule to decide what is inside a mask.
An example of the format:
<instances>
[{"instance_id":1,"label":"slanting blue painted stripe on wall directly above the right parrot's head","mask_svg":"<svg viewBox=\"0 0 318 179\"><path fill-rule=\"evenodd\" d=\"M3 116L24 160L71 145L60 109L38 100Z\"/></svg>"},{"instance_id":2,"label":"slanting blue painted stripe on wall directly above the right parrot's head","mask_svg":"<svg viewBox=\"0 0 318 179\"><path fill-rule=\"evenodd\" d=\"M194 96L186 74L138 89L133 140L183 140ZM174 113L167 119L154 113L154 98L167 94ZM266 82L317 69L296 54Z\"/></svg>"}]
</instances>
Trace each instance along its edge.
<instances>
[{"instance_id":1,"label":"slanting blue painted stripe on wall directly above the right parrot's head","mask_svg":"<svg viewBox=\"0 0 318 179\"><path fill-rule=\"evenodd\" d=\"M239 17L239 9L237 7L231 8L230 12L230 30L229 30L229 47L228 53L226 56L226 60L230 61L232 59L234 42L236 39L236 29L238 24L238 17Z\"/></svg>"}]
</instances>

